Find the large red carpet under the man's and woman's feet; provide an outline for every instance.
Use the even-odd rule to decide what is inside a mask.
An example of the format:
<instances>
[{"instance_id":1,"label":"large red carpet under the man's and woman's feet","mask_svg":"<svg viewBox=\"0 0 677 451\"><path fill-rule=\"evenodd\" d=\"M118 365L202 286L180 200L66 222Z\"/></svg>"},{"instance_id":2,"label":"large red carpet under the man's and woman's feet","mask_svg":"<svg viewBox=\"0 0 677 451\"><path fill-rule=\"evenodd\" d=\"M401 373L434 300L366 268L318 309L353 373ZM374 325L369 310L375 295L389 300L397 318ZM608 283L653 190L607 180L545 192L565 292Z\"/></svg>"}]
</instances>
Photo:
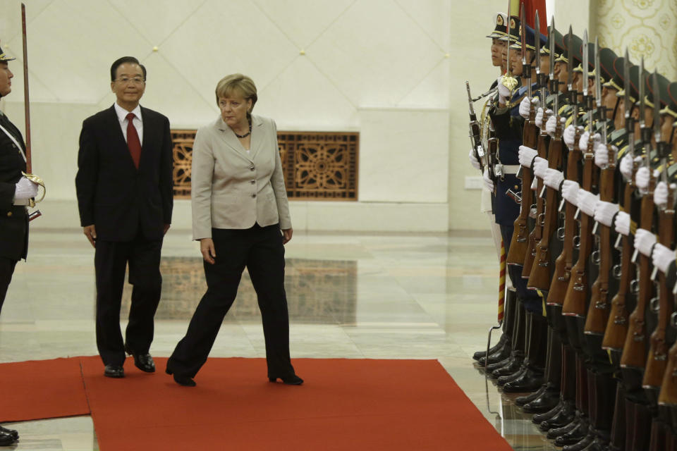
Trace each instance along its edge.
<instances>
[{"instance_id":1,"label":"large red carpet under the man's and woman's feet","mask_svg":"<svg viewBox=\"0 0 677 451\"><path fill-rule=\"evenodd\" d=\"M26 364L78 361L102 451L511 450L434 360L294 359L306 384L288 386L267 382L264 359L209 359L196 388L131 359L119 380L98 357Z\"/></svg>"}]
</instances>

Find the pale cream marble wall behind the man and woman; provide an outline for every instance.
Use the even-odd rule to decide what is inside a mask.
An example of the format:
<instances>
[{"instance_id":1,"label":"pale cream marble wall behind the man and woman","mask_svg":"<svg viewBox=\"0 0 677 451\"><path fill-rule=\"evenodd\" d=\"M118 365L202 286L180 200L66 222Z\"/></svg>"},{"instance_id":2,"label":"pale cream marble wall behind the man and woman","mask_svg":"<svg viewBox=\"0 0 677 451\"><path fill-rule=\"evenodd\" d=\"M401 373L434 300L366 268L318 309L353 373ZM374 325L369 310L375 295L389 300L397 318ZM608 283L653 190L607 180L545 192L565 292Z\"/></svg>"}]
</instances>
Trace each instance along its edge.
<instances>
[{"instance_id":1,"label":"pale cream marble wall behind the man and woman","mask_svg":"<svg viewBox=\"0 0 677 451\"><path fill-rule=\"evenodd\" d=\"M0 39L18 57L4 109L23 129L19 4L2 0ZM34 172L47 181L45 209L58 201L51 210L73 211L63 206L75 202L80 124L113 103L109 66L130 54L148 68L142 103L174 128L211 121L216 81L242 72L257 82L255 111L280 130L360 131L359 202L295 202L304 218L296 222L311 230L331 228L326 218L341 230L486 228L479 191L463 188L477 175L466 157L464 82L477 80L479 92L497 75L484 36L504 8L495 0L31 0ZM378 209L388 213L365 215Z\"/></svg>"}]
</instances>

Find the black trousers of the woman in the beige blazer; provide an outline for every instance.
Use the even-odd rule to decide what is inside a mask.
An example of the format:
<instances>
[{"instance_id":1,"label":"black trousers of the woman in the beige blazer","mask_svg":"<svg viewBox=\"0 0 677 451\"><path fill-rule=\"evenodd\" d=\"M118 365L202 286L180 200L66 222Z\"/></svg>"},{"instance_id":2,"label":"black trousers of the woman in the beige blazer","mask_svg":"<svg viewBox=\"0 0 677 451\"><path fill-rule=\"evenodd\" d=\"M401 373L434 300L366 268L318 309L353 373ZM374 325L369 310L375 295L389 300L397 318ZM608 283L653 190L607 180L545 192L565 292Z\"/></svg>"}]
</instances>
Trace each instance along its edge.
<instances>
[{"instance_id":1,"label":"black trousers of the woman in the beige blazer","mask_svg":"<svg viewBox=\"0 0 677 451\"><path fill-rule=\"evenodd\" d=\"M269 377L294 374L289 357L289 314L284 291L284 246L278 224L245 230L212 229L216 258L205 261L207 292L190 319L185 337L167 362L173 373L195 377L207 362L216 335L238 294L245 266L263 319Z\"/></svg>"}]
</instances>

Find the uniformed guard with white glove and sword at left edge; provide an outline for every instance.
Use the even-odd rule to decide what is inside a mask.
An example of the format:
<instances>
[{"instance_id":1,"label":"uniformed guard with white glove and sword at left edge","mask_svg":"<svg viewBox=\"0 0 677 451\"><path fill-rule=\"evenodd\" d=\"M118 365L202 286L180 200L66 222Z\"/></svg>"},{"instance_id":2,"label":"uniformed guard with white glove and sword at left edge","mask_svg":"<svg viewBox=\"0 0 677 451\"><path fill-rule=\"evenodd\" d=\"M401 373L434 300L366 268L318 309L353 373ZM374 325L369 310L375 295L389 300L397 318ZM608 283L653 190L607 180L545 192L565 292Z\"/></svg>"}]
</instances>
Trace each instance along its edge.
<instances>
[{"instance_id":1,"label":"uniformed guard with white glove and sword at left edge","mask_svg":"<svg viewBox=\"0 0 677 451\"><path fill-rule=\"evenodd\" d=\"M14 74L0 49L0 97L12 91ZM14 267L28 252L28 212L26 205L37 195L37 185L23 176L26 171L26 147L21 132L0 111L0 309ZM19 434L0 426L0 446L11 445Z\"/></svg>"}]
</instances>

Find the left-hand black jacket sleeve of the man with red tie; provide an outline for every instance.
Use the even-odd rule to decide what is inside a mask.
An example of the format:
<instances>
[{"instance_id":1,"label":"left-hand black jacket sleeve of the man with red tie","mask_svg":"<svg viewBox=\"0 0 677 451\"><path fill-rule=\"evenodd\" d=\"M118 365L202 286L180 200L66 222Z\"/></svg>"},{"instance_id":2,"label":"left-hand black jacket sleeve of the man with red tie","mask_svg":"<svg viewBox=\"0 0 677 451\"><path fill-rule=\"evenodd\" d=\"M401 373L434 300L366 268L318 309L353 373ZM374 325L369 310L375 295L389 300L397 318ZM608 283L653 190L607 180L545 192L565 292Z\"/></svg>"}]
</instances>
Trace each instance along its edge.
<instances>
[{"instance_id":1,"label":"left-hand black jacket sleeve of the man with red tie","mask_svg":"<svg viewBox=\"0 0 677 451\"><path fill-rule=\"evenodd\" d=\"M75 175L75 191L78 194L80 226L94 224L94 194L97 188L99 155L94 141L94 133L87 121L83 122L78 150L78 173Z\"/></svg>"}]
</instances>

